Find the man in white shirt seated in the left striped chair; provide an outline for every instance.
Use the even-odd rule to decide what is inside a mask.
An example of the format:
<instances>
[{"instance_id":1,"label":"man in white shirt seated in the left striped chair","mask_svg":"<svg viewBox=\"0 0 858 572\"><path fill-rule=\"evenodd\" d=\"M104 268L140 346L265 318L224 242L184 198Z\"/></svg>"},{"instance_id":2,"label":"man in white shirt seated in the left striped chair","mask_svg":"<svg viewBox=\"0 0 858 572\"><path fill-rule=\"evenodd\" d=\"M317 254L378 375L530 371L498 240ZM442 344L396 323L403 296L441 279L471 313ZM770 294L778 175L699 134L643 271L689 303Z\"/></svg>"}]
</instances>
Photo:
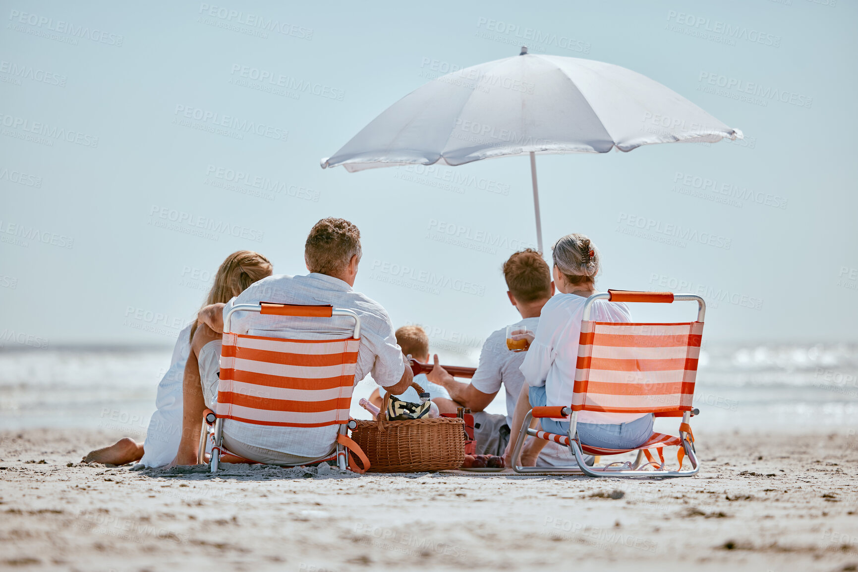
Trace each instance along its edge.
<instances>
[{"instance_id":1,"label":"man in white shirt seated in the left striped chair","mask_svg":"<svg viewBox=\"0 0 858 572\"><path fill-rule=\"evenodd\" d=\"M200 312L206 328L197 328L184 374L184 427L178 449L179 465L196 464L202 412L214 409L221 355L223 316L234 304L331 304L360 316L360 350L354 382L367 374L378 385L400 394L411 384L411 368L396 345L393 324L378 303L352 286L360 262L360 231L343 219L319 220L307 236L304 259L310 274L275 275L253 284L223 306L214 304ZM275 338L326 340L352 334L345 317L306 318L233 314L236 334ZM225 419L224 446L233 454L272 465L317 461L335 449L337 427L272 427Z\"/></svg>"}]
</instances>

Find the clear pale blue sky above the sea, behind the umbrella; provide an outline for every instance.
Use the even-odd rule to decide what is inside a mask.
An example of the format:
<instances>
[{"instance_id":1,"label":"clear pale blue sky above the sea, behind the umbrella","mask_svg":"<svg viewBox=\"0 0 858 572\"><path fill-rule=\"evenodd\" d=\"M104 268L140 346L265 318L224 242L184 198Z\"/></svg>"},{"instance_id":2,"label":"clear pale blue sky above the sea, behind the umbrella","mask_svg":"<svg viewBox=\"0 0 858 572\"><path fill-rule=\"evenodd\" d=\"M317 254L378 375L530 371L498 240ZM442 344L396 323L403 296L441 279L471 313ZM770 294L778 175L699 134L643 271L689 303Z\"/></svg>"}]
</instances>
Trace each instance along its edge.
<instances>
[{"instance_id":1,"label":"clear pale blue sky above the sea, behind the umbrella","mask_svg":"<svg viewBox=\"0 0 858 572\"><path fill-rule=\"evenodd\" d=\"M746 135L539 157L547 244L587 233L601 289L703 292L710 340L858 340L855 3L370 5L0 3L0 344L172 344L228 253L305 273L333 215L360 227L355 287L395 325L478 346L517 317L499 268L535 244L529 160L319 159L439 72L521 45L634 69ZM635 217L730 247L623 232Z\"/></svg>"}]
</instances>

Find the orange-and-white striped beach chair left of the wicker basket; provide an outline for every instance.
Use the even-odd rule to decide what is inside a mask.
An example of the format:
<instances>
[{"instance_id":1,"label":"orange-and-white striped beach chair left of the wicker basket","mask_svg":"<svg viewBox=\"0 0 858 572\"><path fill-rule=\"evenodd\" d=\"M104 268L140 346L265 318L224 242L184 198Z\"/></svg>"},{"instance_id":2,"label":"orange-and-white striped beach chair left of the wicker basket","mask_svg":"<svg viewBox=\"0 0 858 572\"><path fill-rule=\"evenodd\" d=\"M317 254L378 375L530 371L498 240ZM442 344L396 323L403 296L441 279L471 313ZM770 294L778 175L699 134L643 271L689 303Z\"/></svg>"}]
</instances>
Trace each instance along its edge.
<instances>
[{"instance_id":1,"label":"orange-and-white striped beach chair left of the wicker basket","mask_svg":"<svg viewBox=\"0 0 858 572\"><path fill-rule=\"evenodd\" d=\"M338 340L289 340L258 335L233 334L230 318L237 311L275 316L331 317L354 319L352 337ZM215 411L203 414L200 463L204 463L208 429L214 440L210 462L215 473L219 462L252 463L223 447L223 422L276 427L326 427L339 425L334 449L337 466L357 473L369 468L369 460L347 436L354 429L349 408L360 348L360 316L352 310L329 305L236 304L224 318L221 348L221 381ZM249 443L252 444L252 443ZM353 463L357 455L363 467ZM326 455L311 462L333 459ZM302 463L303 464L303 463Z\"/></svg>"}]
</instances>

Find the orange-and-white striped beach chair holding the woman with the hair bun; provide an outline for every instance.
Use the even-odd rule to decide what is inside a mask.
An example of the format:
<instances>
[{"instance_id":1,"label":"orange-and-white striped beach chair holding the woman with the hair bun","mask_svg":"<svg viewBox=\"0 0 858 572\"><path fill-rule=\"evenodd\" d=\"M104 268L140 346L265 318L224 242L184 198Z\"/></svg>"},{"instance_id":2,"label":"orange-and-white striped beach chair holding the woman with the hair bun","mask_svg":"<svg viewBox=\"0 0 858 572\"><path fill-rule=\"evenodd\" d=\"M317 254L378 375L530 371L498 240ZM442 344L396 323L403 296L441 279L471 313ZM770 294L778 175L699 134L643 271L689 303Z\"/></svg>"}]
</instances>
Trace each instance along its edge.
<instances>
[{"instance_id":1,"label":"orange-and-white striped beach chair holding the woman with the hair bun","mask_svg":"<svg viewBox=\"0 0 858 572\"><path fill-rule=\"evenodd\" d=\"M595 300L670 304L696 301L696 322L626 323L592 322L590 307ZM571 406L534 407L524 418L516 448L512 454L516 473L573 473L590 477L691 477L700 466L694 452L690 420L698 410L692 408L697 377L700 340L703 335L706 304L693 294L673 292L627 292L608 290L594 294L584 304L581 338L578 342L577 370ZM637 449L601 449L580 443L577 436L577 412L653 413L656 417L681 417L679 437L656 433ZM534 418L569 420L568 435L555 435L530 429ZM569 447L577 467L519 467L522 445L527 437L537 437ZM678 446L679 467L665 469L663 448ZM661 464L649 449L656 449ZM606 467L588 467L583 455L619 455L637 450L633 463L610 463ZM684 457L691 468L682 470ZM644 462L644 457L647 462ZM616 465L621 467L616 467ZM656 467L655 470L650 470Z\"/></svg>"}]
</instances>

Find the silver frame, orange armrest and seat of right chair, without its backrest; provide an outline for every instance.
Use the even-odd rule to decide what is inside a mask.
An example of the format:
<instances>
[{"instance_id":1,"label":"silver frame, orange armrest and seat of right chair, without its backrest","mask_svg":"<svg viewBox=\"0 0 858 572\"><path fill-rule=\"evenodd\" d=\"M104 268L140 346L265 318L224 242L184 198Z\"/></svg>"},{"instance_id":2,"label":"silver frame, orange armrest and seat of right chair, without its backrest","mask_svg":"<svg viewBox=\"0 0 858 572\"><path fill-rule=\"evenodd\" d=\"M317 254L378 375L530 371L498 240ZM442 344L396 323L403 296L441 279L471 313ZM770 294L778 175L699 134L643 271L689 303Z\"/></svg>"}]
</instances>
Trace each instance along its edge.
<instances>
[{"instance_id":1,"label":"silver frame, orange armrest and seat of right chair, without its backrest","mask_svg":"<svg viewBox=\"0 0 858 572\"><path fill-rule=\"evenodd\" d=\"M659 411L658 409L663 408L654 408L653 413L656 417L680 417L682 418L682 422L680 423L680 437L673 437L664 435L661 433L653 433L647 443L640 446L637 449L595 449L589 448L587 445L583 445L578 440L577 436L577 413L583 409L586 409L586 406L583 404L586 400L586 388L587 388L587 380L589 376L589 366L588 368L582 368L582 364L586 364L582 361L582 358L589 358L589 355L582 355L582 353L586 353L588 351L592 351L587 346L592 344L593 341L593 329L589 326L591 324L601 323L601 322L589 322L590 310L593 303L596 300L613 300L615 302L643 302L643 303L662 303L662 304L670 304L673 302L684 302L684 301L693 301L698 303L698 316L697 322L684 322L680 324L637 324L637 323L624 323L624 322L613 322L612 325L616 325L619 327L622 326L689 326L689 334L687 345L689 348L693 349L696 347L697 355L699 352L700 346L700 337L703 334L703 324L704 318L706 315L706 303L703 298L695 294L674 294L673 292L627 292L627 291L619 291L619 290L608 290L608 292L602 292L593 294L587 301L584 303L583 309L583 318L582 318L582 331L581 331L581 339L579 340L579 352L578 352L578 369L575 375L575 394L573 395L573 404L571 406L547 406L547 407L533 407L527 415L524 417L521 430L519 431L518 440L516 443L516 447L512 452L512 469L516 473L561 473L561 474L580 474L587 475L589 477L692 477L698 473L700 470L700 463L698 461L697 455L695 454L694 449L694 438L691 432L691 425L689 424L692 415L697 415L699 411L697 409L693 409L691 406L691 401L694 393L694 383L696 381L696 373L697 373L697 363L698 358L686 359L686 374L683 379L683 403L680 406L677 406L672 411ZM589 323L588 323L589 322ZM698 334L691 334L691 332L698 332ZM692 369L689 369L692 368ZM580 391L583 389L583 392ZM690 390L690 394L689 394ZM531 429L530 423L534 418L569 418L569 432L567 435L556 435L554 433L548 433L547 431L541 431L538 429ZM536 437L540 439L545 439L546 441L553 441L554 443L559 443L561 445L565 445L571 451L571 454L575 456L575 461L577 462L577 466L572 467L522 467L520 466L519 460L521 457L521 451L523 448L523 444L527 437ZM680 446L680 452L677 455L677 460L680 463L680 467L677 470L666 470L663 468L664 460L661 449L664 446ZM647 449L656 448L659 449L659 456L662 459L662 466L656 470L644 470L646 467L650 465L655 465L656 463L652 462L652 457L648 453ZM607 467L588 467L584 462L585 453L590 453L592 455L619 455L623 453L628 453L631 451L637 450L637 458L634 462L627 463L627 467L616 469L612 467L612 465L608 465ZM682 460L683 457L687 456L688 461L691 463L691 468L685 471L682 470ZM644 457L649 459L650 462L644 463Z\"/></svg>"}]
</instances>

